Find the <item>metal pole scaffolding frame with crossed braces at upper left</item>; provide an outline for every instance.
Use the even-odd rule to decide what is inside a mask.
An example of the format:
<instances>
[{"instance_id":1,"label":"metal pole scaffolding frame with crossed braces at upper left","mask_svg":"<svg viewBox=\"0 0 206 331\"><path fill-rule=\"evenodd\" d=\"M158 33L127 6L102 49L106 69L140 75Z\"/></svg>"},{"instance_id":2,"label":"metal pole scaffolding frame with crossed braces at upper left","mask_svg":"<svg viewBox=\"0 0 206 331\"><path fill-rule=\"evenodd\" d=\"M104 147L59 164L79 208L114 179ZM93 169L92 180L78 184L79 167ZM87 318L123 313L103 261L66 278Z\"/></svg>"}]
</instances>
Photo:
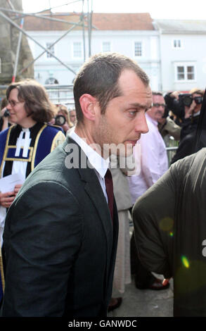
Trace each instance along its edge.
<instances>
[{"instance_id":1,"label":"metal pole scaffolding frame with crossed braces at upper left","mask_svg":"<svg viewBox=\"0 0 206 331\"><path fill-rule=\"evenodd\" d=\"M66 6L68 4L73 4L76 2L82 2L82 12L81 13L62 13L60 15L79 15L79 22L78 23L74 23L74 22L69 22L67 20L61 20L60 18L55 18L52 17L52 12L51 10L53 8L58 8L60 6ZM16 50L16 56L15 56L15 65L14 65L14 70L13 70L13 76L12 76L12 82L15 82L15 77L17 75L17 68L18 68L18 58L19 58L19 54L20 54L20 44L21 44L21 39L22 39L22 34L26 35L26 37L28 37L29 39L31 39L35 44L37 44L39 47L41 47L41 49L44 49L44 51L42 51L41 54L39 54L39 56L37 56L36 58L34 58L33 61L31 61L25 68L22 68L19 72L18 75L20 75L21 73L23 73L25 70L27 70L27 68L30 67L30 65L32 65L35 61L37 61L38 58L40 58L43 54L45 54L46 52L49 53L53 58L56 58L56 60L63 66L65 66L65 68L67 68L67 70L70 70L72 73L74 73L74 75L76 75L75 71L72 70L72 68L70 68L69 65L66 65L65 63L63 63L63 61L60 60L60 58L58 58L57 56L55 56L52 52L51 52L51 48L53 47L54 44L57 44L61 39L63 39L63 37L65 37L70 31L72 31L74 29L74 27L79 26L82 27L82 39L83 39L83 46L84 46L84 61L86 59L86 48L85 48L85 27L88 28L88 44L89 44L89 56L91 56L91 31L92 31L92 2L93 0L86 0L87 1L87 13L84 13L84 0L75 0L75 1L69 1L67 2L67 4L63 4L60 6L56 6L56 7L50 7L50 8L46 8L44 11L40 11L37 13L23 13L22 11L16 11L12 1L11 0L7 0L8 5L10 6L11 9L8 8L2 8L0 7L0 16L1 18L4 18L4 20L7 21L7 23L10 23L13 27L15 27L16 29L18 29L20 31L19 34L19 38L18 38L18 46L17 46L17 50ZM45 11L50 11L50 13L45 13ZM4 12L9 13L10 15L14 15L13 18L9 17L8 15L6 15ZM43 14L41 14L43 13ZM53 16L55 16L56 14L54 14ZM58 16L60 16L58 15ZM55 42L53 42L48 48L44 47L43 45L41 45L39 42L37 42L37 40L35 40L33 37L31 37L24 29L23 27L23 23L24 23L24 18L26 16L32 16L32 17L36 17L36 18L41 18L43 20L51 20L51 21L56 21L56 22L60 22L60 23L66 23L68 25L72 25L72 27L70 27L70 29L68 29L62 36L60 36L58 39L56 39ZM17 19L21 19L20 25L15 23L15 20ZM85 21L86 21L86 25L85 25Z\"/></svg>"}]
</instances>

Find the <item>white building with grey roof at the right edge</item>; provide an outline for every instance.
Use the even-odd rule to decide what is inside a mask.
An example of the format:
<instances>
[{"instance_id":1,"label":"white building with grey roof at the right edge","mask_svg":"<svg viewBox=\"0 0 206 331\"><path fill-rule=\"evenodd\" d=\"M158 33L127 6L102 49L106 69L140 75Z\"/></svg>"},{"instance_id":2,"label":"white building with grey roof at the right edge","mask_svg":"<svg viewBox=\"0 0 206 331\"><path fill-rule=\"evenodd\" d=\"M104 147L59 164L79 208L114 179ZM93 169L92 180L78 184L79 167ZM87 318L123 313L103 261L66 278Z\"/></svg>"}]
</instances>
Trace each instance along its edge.
<instances>
[{"instance_id":1,"label":"white building with grey roof at the right edge","mask_svg":"<svg viewBox=\"0 0 206 331\"><path fill-rule=\"evenodd\" d=\"M206 86L206 20L156 20L162 91Z\"/></svg>"}]
</instances>

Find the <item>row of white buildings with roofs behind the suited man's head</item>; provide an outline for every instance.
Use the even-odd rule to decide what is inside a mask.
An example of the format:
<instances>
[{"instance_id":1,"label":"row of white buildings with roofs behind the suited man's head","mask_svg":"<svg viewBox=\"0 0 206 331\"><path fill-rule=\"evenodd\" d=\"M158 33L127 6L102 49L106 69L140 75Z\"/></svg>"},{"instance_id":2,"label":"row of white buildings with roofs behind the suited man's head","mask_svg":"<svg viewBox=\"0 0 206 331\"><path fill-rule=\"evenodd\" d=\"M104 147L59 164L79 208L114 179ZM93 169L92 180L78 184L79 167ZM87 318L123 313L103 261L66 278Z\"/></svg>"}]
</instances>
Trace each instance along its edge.
<instances>
[{"instance_id":1,"label":"row of white buildings with roofs behind the suited man's head","mask_svg":"<svg viewBox=\"0 0 206 331\"><path fill-rule=\"evenodd\" d=\"M93 15L91 55L114 51L133 58L148 74L153 91L205 89L206 21L152 20L148 13ZM34 27L30 24L27 33L46 48L60 39L50 51L63 63L45 52L34 62L34 78L42 85L72 85L75 73L89 57L88 31L84 30L83 37L81 28L65 35L65 28L55 30L55 23L53 30L42 24ZM29 43L37 58L44 50Z\"/></svg>"}]
</instances>

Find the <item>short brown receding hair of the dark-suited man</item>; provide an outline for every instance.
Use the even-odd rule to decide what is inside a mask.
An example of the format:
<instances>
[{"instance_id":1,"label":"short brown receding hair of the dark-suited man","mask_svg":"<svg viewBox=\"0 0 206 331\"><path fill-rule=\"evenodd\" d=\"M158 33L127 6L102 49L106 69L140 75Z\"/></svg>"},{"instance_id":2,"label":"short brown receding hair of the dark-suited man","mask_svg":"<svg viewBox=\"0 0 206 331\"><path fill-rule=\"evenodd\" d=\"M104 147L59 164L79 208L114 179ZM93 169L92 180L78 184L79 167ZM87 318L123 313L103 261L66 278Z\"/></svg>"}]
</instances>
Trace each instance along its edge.
<instances>
[{"instance_id":1,"label":"short brown receding hair of the dark-suited man","mask_svg":"<svg viewBox=\"0 0 206 331\"><path fill-rule=\"evenodd\" d=\"M83 113L79 104L82 94L90 94L98 100L101 113L105 113L108 102L122 95L118 80L123 70L132 70L148 86L149 79L139 65L117 53L101 53L89 58L79 70L74 82L75 109L77 123L83 121Z\"/></svg>"}]
</instances>

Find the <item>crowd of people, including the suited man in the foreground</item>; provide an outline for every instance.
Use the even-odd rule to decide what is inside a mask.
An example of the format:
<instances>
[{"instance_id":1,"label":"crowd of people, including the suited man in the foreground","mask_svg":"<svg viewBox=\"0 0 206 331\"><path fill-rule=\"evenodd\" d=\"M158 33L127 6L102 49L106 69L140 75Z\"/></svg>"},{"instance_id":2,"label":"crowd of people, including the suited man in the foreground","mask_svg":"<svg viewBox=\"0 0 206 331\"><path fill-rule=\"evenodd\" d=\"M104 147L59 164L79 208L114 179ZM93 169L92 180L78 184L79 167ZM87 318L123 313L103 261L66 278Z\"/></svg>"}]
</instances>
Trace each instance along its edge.
<instances>
[{"instance_id":1,"label":"crowd of people, including the suited man in the foreground","mask_svg":"<svg viewBox=\"0 0 206 331\"><path fill-rule=\"evenodd\" d=\"M146 73L120 54L84 63L75 108L52 104L35 80L8 86L0 180L18 174L21 182L0 189L1 316L106 316L132 277L151 290L174 277L174 316L206 316L206 281L195 287L206 238L203 96L200 88L152 92ZM171 136L179 146L169 163Z\"/></svg>"}]
</instances>

